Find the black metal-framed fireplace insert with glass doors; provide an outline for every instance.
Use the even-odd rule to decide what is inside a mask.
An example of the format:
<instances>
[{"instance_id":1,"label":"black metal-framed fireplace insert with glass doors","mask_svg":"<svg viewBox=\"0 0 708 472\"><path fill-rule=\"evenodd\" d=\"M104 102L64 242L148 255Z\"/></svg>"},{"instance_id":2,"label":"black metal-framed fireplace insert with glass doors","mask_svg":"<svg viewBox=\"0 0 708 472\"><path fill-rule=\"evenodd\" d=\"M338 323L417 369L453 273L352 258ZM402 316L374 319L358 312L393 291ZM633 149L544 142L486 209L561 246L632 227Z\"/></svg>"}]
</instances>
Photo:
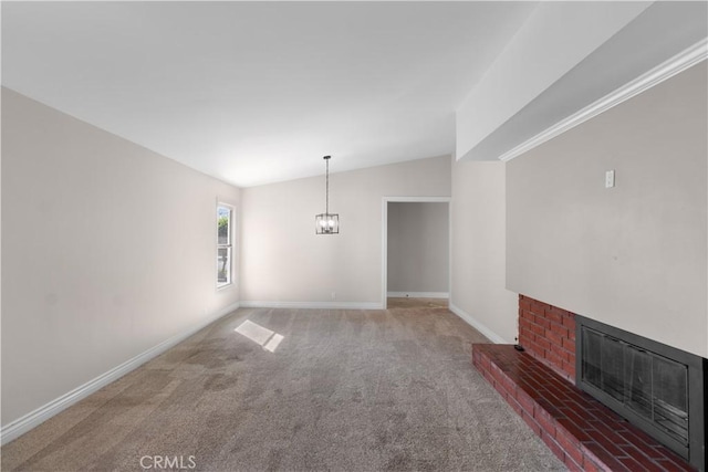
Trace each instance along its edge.
<instances>
[{"instance_id":1,"label":"black metal-framed fireplace insert with glass doors","mask_svg":"<svg viewBox=\"0 0 708 472\"><path fill-rule=\"evenodd\" d=\"M575 321L577 386L705 470L708 361L583 316Z\"/></svg>"}]
</instances>

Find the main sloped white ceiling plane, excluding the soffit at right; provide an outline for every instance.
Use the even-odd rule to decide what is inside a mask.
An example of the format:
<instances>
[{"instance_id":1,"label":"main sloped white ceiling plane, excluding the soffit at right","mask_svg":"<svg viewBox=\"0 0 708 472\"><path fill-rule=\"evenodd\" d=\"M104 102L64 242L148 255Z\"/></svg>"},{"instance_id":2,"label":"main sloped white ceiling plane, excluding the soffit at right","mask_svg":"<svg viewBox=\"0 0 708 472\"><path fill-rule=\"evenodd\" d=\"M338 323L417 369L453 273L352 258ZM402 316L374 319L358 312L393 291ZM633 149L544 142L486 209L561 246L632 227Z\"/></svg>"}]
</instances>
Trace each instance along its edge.
<instances>
[{"instance_id":1,"label":"main sloped white ceiling plane, excluding the soffit at right","mask_svg":"<svg viewBox=\"0 0 708 472\"><path fill-rule=\"evenodd\" d=\"M451 154L535 2L2 2L2 84L238 186Z\"/></svg>"}]
</instances>

